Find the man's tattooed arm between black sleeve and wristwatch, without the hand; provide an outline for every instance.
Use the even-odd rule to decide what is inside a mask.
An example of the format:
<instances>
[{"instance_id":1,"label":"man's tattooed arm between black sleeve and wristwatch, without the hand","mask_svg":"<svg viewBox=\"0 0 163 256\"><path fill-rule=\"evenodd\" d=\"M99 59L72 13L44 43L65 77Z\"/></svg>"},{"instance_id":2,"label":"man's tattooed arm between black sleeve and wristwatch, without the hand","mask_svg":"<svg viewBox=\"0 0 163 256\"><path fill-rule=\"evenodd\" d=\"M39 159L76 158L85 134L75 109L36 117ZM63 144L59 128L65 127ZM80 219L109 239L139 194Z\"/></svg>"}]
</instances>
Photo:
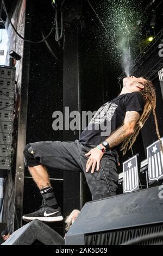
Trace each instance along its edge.
<instances>
[{"instance_id":1,"label":"man's tattooed arm between black sleeve and wristwatch, without the hand","mask_svg":"<svg viewBox=\"0 0 163 256\"><path fill-rule=\"evenodd\" d=\"M134 127L140 118L139 112L127 111L124 118L124 124L113 132L106 141L109 143L110 148L113 148L124 141L128 136L134 132Z\"/></svg>"}]
</instances>

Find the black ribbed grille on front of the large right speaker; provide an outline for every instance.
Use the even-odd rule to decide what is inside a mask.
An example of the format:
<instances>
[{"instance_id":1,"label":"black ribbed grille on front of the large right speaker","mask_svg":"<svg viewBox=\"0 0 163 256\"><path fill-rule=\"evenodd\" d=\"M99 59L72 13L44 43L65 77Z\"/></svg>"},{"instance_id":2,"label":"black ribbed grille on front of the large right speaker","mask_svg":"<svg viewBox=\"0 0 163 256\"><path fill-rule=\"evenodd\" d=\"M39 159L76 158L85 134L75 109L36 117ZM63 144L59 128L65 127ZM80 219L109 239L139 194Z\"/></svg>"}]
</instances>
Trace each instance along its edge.
<instances>
[{"instance_id":1,"label":"black ribbed grille on front of the large right speaker","mask_svg":"<svg viewBox=\"0 0 163 256\"><path fill-rule=\"evenodd\" d=\"M86 234L85 245L121 245L121 243L127 242L137 237L156 234L163 231L163 225L153 225L141 228L123 229L116 231L106 231L103 233ZM137 243L137 245L158 245L163 244L163 237L143 241Z\"/></svg>"}]
</instances>

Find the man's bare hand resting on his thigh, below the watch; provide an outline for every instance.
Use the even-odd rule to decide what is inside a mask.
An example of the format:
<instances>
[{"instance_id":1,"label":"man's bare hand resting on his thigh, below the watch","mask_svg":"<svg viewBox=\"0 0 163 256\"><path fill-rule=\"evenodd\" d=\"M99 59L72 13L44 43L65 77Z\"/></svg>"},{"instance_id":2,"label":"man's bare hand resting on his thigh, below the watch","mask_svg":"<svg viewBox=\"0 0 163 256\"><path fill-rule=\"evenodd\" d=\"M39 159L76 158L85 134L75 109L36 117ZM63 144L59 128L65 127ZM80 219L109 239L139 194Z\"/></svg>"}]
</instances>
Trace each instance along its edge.
<instances>
[{"instance_id":1,"label":"man's bare hand resting on his thigh, below the watch","mask_svg":"<svg viewBox=\"0 0 163 256\"><path fill-rule=\"evenodd\" d=\"M91 166L92 166L91 173L93 173L95 170L96 164L97 164L96 170L99 170L99 163L103 157L102 150L98 148L94 148L94 149L91 149L85 155L90 156L86 162L86 173L89 172L89 169L91 168Z\"/></svg>"}]
</instances>

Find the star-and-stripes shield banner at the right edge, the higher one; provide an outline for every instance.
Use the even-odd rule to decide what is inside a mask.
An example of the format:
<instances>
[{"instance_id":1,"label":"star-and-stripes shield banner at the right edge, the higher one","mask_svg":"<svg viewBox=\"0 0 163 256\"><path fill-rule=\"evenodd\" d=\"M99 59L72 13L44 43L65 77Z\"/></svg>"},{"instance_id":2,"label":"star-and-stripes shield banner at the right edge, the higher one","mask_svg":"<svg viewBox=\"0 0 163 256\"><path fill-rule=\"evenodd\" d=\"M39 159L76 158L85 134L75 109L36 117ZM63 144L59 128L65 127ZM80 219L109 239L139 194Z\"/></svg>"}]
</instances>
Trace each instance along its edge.
<instances>
[{"instance_id":1,"label":"star-and-stripes shield banner at the right edge, the higher one","mask_svg":"<svg viewBox=\"0 0 163 256\"><path fill-rule=\"evenodd\" d=\"M158 140L147 147L149 180L159 180L161 177L163 179L163 156L160 145L162 142L163 139L161 138L161 140Z\"/></svg>"}]
</instances>

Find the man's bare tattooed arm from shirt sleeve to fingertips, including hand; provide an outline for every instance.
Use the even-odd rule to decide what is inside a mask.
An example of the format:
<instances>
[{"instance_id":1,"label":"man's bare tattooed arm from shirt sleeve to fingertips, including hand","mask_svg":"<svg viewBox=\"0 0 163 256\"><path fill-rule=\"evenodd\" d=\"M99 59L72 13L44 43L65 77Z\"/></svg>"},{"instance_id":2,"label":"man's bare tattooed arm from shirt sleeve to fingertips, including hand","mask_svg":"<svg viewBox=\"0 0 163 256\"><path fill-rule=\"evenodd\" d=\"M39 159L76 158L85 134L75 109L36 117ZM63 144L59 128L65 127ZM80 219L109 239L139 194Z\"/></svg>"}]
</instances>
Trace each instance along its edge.
<instances>
[{"instance_id":1,"label":"man's bare tattooed arm from shirt sleeve to fingertips, including hand","mask_svg":"<svg viewBox=\"0 0 163 256\"><path fill-rule=\"evenodd\" d=\"M124 124L119 127L116 131L114 131L107 139L106 141L109 143L110 148L113 148L124 141L129 135L134 133L134 128L137 123L137 121L140 118L140 114L137 111L127 111L125 118L124 118ZM104 146L102 144L102 148ZM89 169L91 168L91 173L94 172L95 167L96 170L99 170L99 163L101 158L103 157L103 153L101 150L94 148L89 151L89 153L85 154L86 156L89 156L89 159L86 163L86 172L89 172Z\"/></svg>"}]
</instances>

